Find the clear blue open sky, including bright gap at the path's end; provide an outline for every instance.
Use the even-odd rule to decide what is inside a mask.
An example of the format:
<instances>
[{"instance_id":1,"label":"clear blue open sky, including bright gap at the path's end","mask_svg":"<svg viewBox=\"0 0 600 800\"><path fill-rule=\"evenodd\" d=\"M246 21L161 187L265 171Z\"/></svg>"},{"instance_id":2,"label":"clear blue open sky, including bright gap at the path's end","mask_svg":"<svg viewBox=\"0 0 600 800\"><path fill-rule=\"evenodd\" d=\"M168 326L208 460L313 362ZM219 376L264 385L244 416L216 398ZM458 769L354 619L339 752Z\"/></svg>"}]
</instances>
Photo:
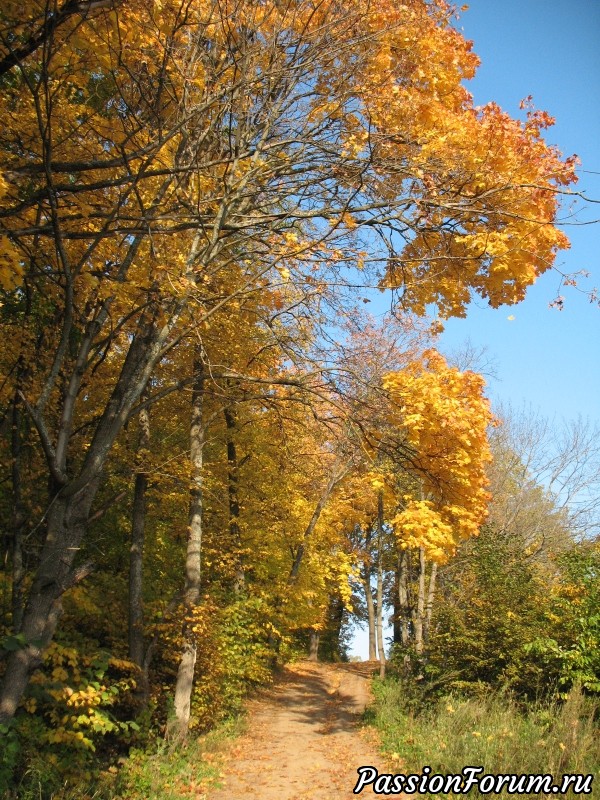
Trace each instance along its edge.
<instances>
[{"instance_id":1,"label":"clear blue open sky, including bright gap at the path's end","mask_svg":"<svg viewBox=\"0 0 600 800\"><path fill-rule=\"evenodd\" d=\"M581 159L578 190L600 201L600 0L472 0L457 26L481 58L468 84L476 105L493 100L516 116L520 101L533 95L537 108L556 117L547 140ZM570 223L600 219L600 203L576 208ZM591 276L582 286L600 289L600 224L565 230L572 246L557 266L586 269ZM547 273L516 306L472 304L466 319L446 323L440 347L460 349L467 339L486 347L495 401L600 423L600 307L571 288L562 292L564 310L550 309L558 282ZM352 652L367 657L366 631L357 633Z\"/></svg>"}]
</instances>

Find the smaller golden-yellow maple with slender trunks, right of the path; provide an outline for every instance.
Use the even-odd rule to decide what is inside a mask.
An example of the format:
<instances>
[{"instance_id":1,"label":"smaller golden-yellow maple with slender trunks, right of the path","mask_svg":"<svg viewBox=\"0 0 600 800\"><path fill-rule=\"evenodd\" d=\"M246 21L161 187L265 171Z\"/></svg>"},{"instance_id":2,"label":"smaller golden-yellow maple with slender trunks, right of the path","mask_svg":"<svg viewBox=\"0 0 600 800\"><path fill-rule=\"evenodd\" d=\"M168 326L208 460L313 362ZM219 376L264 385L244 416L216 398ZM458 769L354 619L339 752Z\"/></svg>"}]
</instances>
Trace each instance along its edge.
<instances>
[{"instance_id":1,"label":"smaller golden-yellow maple with slender trunks, right of the path","mask_svg":"<svg viewBox=\"0 0 600 800\"><path fill-rule=\"evenodd\" d=\"M384 573L394 574L388 592L396 641L407 646L414 638L420 653L431 622L438 565L454 555L461 540L477 535L487 517L487 429L493 417L481 376L450 367L433 349L381 377L384 404L380 401L379 415L372 420L377 449L366 474L370 485L362 488L372 498L371 513L355 537L360 539L370 658L378 652L384 659ZM410 598L415 562L416 596Z\"/></svg>"}]
</instances>

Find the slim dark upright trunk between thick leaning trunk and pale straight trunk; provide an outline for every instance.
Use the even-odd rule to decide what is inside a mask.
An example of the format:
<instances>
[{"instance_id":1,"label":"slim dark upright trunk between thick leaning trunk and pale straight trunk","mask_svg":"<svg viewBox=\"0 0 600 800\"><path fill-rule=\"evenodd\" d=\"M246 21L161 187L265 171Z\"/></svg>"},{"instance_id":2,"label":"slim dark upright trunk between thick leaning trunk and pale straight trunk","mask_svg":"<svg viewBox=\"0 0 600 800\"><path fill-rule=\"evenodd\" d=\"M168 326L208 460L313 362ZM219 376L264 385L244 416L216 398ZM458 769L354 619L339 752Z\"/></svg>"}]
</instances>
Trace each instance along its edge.
<instances>
[{"instance_id":1,"label":"slim dark upright trunk between thick leaning trunk and pale straight trunk","mask_svg":"<svg viewBox=\"0 0 600 800\"><path fill-rule=\"evenodd\" d=\"M143 408L139 414L137 470L133 490L131 516L131 548L129 554L129 658L143 670L144 666L144 598L143 567L146 525L147 465L144 463L150 446L150 414ZM145 693L145 692L144 692Z\"/></svg>"}]
</instances>

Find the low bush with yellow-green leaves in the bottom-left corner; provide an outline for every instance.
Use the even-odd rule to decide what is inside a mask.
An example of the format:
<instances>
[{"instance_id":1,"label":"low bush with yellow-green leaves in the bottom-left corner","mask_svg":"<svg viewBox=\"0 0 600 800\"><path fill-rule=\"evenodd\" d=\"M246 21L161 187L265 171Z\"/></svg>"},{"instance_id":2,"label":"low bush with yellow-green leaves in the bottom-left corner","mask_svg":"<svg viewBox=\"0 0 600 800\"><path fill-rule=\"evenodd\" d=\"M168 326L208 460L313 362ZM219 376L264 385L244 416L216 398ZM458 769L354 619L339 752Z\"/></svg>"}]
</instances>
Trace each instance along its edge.
<instances>
[{"instance_id":1,"label":"low bush with yellow-green leaves in the bottom-left corner","mask_svg":"<svg viewBox=\"0 0 600 800\"><path fill-rule=\"evenodd\" d=\"M97 777L97 750L106 750L105 739L119 741L121 748L135 740L135 665L97 648L86 654L86 644L81 637L53 642L32 676L23 700L26 713L5 732L0 769L5 791L12 785L9 775L20 776L23 796L36 793L37 782L45 796L64 787L77 791Z\"/></svg>"}]
</instances>

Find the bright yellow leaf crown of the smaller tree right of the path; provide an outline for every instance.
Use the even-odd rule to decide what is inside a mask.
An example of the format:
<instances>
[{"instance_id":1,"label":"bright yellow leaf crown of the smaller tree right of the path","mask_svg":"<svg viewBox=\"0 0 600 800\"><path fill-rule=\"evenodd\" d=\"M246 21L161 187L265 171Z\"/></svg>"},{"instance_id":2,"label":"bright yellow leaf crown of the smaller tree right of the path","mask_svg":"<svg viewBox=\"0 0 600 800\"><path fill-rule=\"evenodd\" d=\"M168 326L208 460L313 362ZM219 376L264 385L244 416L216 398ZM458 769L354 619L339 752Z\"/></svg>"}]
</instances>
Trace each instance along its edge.
<instances>
[{"instance_id":1,"label":"bright yellow leaf crown of the smaller tree right of the path","mask_svg":"<svg viewBox=\"0 0 600 800\"><path fill-rule=\"evenodd\" d=\"M403 547L424 547L443 562L487 515L487 428L492 422L483 379L449 367L433 350L384 381L392 419L414 449L420 493L405 495L393 525Z\"/></svg>"}]
</instances>

